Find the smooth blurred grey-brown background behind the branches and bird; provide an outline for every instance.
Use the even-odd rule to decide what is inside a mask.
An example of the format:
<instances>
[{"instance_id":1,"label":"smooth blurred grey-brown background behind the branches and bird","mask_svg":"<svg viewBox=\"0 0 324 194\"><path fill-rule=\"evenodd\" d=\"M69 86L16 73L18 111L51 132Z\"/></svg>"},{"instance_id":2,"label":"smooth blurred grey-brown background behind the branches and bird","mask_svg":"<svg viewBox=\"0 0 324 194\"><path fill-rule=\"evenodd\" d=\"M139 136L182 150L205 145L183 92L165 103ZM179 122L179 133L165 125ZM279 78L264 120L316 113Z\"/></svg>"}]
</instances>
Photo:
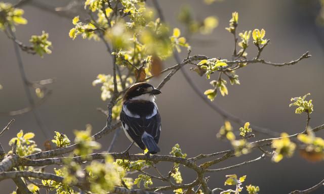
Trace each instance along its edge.
<instances>
[{"instance_id":1,"label":"smooth blurred grey-brown background behind the branches and bird","mask_svg":"<svg viewBox=\"0 0 324 194\"><path fill-rule=\"evenodd\" d=\"M15 1L5 2L15 3ZM94 87L92 81L99 73L112 73L111 58L102 42L84 40L80 37L72 40L68 37L68 32L73 27L72 17L58 16L47 10L65 7L69 1L43 0L39 3L44 7L35 6L37 1L31 1L22 7L28 24L18 26L16 30L17 38L25 43L28 43L31 35L39 35L45 30L53 43L53 53L43 59L21 52L29 80L47 78L56 80L48 86L53 91L52 94L43 104L37 106L36 111L51 137L54 136L54 131L59 131L73 140L73 130L83 130L86 124L91 124L93 133L96 133L106 123L105 116L96 108L106 109L107 102L100 99L100 86ZM149 0L147 4L152 6ZM192 46L192 55L231 58L233 37L224 28L228 26L231 13L234 11L239 13L238 32L255 28L266 30L265 37L270 38L271 42L262 53L262 58L281 63L298 59L306 51L312 55L311 58L302 60L294 66L278 68L251 64L236 72L241 84L229 86L228 96L219 95L213 103L252 124L293 134L304 129L306 116L296 115L295 109L289 108L290 99L310 92L314 104L310 125L315 127L324 123L324 30L316 22L320 9L319 1L224 0L208 6L198 0L160 1L166 20L172 27L183 29L176 18L184 5L190 5L197 19L216 16L219 20L219 26L212 34L195 35L191 38L189 43ZM82 9L82 6L73 10L75 13L69 14L80 15L78 9ZM248 53L250 58L256 54L252 43ZM183 53L182 57L185 56L186 53ZM19 73L13 42L3 32L0 32L0 59L0 83L3 85L3 89L0 90L2 99L0 112L27 107L28 99ZM172 58L164 63L165 67L175 64ZM211 87L205 77L190 72L189 65L185 66L185 70L201 92ZM156 86L163 77L153 79L151 83ZM159 142L160 154L169 154L175 143L180 144L188 157L231 148L229 142L216 138L216 133L223 125L222 117L199 99L180 71L165 85L162 92L156 101L163 121ZM32 93L34 95L34 91ZM2 115L0 126L6 126L11 118L15 118L16 121L10 130L0 137L6 152L11 149L8 141L21 129L25 132L34 132L38 147L44 149L43 143L47 138L39 129L31 112L14 117ZM239 126L232 124L234 129L238 130ZM323 137L324 133L319 132L317 135ZM100 139L103 150L107 150L112 136L111 133ZM251 140L265 137L268 136L256 133L256 137ZM113 152L124 151L129 144L130 141L121 131ZM140 150L133 147L130 152L139 153ZM260 155L261 153L255 150L248 156L229 159L214 168L254 159ZM266 158L238 169L212 173L209 185L212 185L211 188L228 189L229 186L224 186L225 175L235 173L238 176L247 175L245 183L260 186L260 193L288 193L295 189L309 188L322 180L323 164L305 161L296 152L293 158L285 158L278 164ZM161 171L167 174L172 164L164 163L159 166ZM183 170L182 173L184 183L189 183L195 178L193 171ZM15 189L12 180L0 182L0 187L1 193L9 193ZM324 188L321 188L314 193L323 192Z\"/></svg>"}]
</instances>

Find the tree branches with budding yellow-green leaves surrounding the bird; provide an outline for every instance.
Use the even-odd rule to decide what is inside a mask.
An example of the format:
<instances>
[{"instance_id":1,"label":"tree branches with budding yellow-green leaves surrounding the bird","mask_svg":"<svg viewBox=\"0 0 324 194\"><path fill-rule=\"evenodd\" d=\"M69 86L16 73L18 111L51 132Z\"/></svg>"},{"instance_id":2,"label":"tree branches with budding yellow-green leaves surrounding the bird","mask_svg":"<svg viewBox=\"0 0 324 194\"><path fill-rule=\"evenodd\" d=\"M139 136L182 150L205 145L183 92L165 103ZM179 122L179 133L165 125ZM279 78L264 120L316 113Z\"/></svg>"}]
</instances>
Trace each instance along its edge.
<instances>
[{"instance_id":1,"label":"tree branches with budding yellow-green leaves surrounding the bird","mask_svg":"<svg viewBox=\"0 0 324 194\"><path fill-rule=\"evenodd\" d=\"M85 2L85 8L88 10L91 19L81 21L78 16L74 17L72 20L74 27L70 30L69 36L73 39L81 35L83 38L101 40L112 57L111 67L113 75L100 74L93 82L94 85L102 84L101 97L103 100L109 99L107 111L102 111L107 116L106 125L94 135L90 135L91 127L89 126L85 131L75 132L75 143L71 146L70 140L66 135L56 132L55 139L52 141L56 143L57 149L45 152L38 152L39 150L36 148L34 141L31 140L34 136L33 134L19 132L17 137L10 140L10 144L14 147L13 151L0 162L0 181L7 178L16 180L18 188L23 193L28 193L29 191L28 188L26 189L25 183L21 182L23 181L22 177L27 178L26 180L29 180L28 178L42 180L42 184L35 182L34 185L44 185L46 188L57 190L64 188L69 192L74 192L72 187L76 186L93 193L106 193L109 191L137 194L164 190L174 190L176 193L183 193L183 189L186 189L186 193L191 193L192 191L210 194L217 190L222 190L222 193L233 192L238 194L242 190L241 186L246 176L238 178L236 174L227 175L225 185L233 185L236 188L235 190L225 190L223 188L210 188L206 174L239 168L261 161L265 157L271 157L272 161L279 162L284 157L291 157L296 148L302 150L306 158L309 157L307 154L321 154L324 146L318 145L318 142L321 142L322 139L315 137L314 132L324 127L321 125L313 129L309 128L309 114L312 111L312 104L311 101L305 101L307 95L303 98L292 99L294 101L292 106L298 106L296 113L307 113L306 130L293 135L284 133L280 137L250 142L249 140L255 137L255 135L251 134L252 129L249 122L244 122L239 118L216 109L225 119L224 126L221 127L217 136L229 140L233 149L212 154L200 154L192 158L187 158L187 155L181 151L179 145L172 148L170 155L150 156L129 153L95 153L94 150L99 149L97 140L120 127L121 124L118 120L118 110L121 106L120 99L129 85L134 82L133 79L136 82L148 81L153 77L168 72L157 86L158 89L161 89L180 69L189 64L194 67L193 70L199 73L199 75L206 74L207 78L210 78L212 74L219 73L218 79L211 82L214 90L205 92L208 98L213 100L217 90L220 90L222 95L228 93L224 77L227 76L231 83L239 84L235 70L254 63L272 66L294 65L310 57L308 52L306 52L299 59L286 63L272 63L260 58L264 48L269 43L269 39L264 39L265 30L255 29L252 36L254 39L253 43L258 49L258 54L256 57L248 59L246 52L252 31L239 33L238 36L241 37L242 41L238 42L238 36L236 35L238 13L233 13L230 27L227 28L234 35L232 60L224 60L218 56L213 58L204 55L190 56L191 47L186 38L181 36L180 29L174 28L172 35L170 35L170 30L165 25L161 8L157 1L153 0L153 4L159 14L159 18L152 17L151 11L145 7L145 1L135 1L135 3L119 0ZM93 13L96 13L97 16L93 16ZM124 20L124 18L127 19ZM215 20L213 17L206 18L204 24L198 25L199 30L196 31L210 31L211 28L217 26L217 20ZM137 28L137 25L140 27ZM242 48L240 51L237 51L237 45ZM189 52L187 57L181 61L178 52L183 48L186 48ZM162 68L162 62L171 55L174 55L177 64L169 68ZM125 71L126 74L123 75ZM240 125L244 124L243 127L239 128L239 137L234 134L227 119L234 120ZM251 127L254 128L253 125ZM274 134L273 131L269 130L260 131ZM275 134L273 136L278 135ZM33 147L26 146L28 144L32 144ZM268 151L269 149L272 152ZM232 166L212 168L216 164L223 163L233 157L249 154L253 150L261 151L262 156ZM62 157L63 154L68 154L68 156ZM97 160L105 160L105 163L98 163ZM167 176L163 176L164 173L157 169L155 164L160 162L173 163ZM83 164L85 167L81 166ZM35 172L34 169L27 171L27 169L32 169L33 167L49 165L59 165L62 168L54 169L55 174ZM196 178L184 184L179 165L195 171ZM154 168L155 173L144 171L145 167ZM22 170L13 171L13 168ZM139 173L138 178L130 181L129 177L126 176L127 173L125 173L127 170ZM174 181L171 180L171 177ZM152 187L150 186L153 184L152 178L168 185ZM130 182L138 186L142 182L144 188L131 188ZM315 185L315 187L319 187L318 185ZM259 191L259 187L249 185L247 186L247 191L249 193L256 193Z\"/></svg>"}]
</instances>

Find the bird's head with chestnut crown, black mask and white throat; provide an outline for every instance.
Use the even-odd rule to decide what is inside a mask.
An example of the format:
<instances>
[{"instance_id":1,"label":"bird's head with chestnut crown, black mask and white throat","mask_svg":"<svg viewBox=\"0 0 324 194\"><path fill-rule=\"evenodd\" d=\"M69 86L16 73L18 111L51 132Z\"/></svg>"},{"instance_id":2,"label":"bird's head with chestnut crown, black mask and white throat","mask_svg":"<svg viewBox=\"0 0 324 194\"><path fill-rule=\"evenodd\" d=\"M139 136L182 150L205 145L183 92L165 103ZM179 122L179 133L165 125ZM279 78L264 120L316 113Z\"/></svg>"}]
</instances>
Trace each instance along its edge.
<instances>
[{"instance_id":1,"label":"bird's head with chestnut crown, black mask and white throat","mask_svg":"<svg viewBox=\"0 0 324 194\"><path fill-rule=\"evenodd\" d=\"M154 97L161 91L151 84L140 82L132 85L124 95L124 102L128 100L140 100L154 102Z\"/></svg>"}]
</instances>

